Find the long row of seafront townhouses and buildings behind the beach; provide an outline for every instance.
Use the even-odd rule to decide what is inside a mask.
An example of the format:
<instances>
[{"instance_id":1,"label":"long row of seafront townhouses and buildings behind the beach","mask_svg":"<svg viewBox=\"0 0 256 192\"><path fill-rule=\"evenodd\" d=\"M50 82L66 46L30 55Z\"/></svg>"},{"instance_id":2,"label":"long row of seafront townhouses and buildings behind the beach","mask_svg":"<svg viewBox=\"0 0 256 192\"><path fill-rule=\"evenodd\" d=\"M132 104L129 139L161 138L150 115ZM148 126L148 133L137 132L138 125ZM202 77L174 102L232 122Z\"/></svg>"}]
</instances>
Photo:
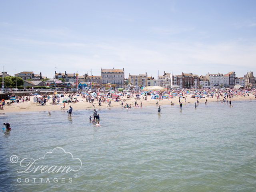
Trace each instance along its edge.
<instances>
[{"instance_id":1,"label":"long row of seafront townhouses and buildings behind the beach","mask_svg":"<svg viewBox=\"0 0 256 192\"><path fill-rule=\"evenodd\" d=\"M20 72L16 76L21 77L23 80L43 80L47 78L42 76L41 72L39 74L34 74L34 72ZM64 79L66 82L76 82L75 73L64 73L59 72L55 74L57 79ZM101 74L98 76L88 74L83 74L78 76L79 83L90 83L94 84L116 84L117 88L123 88L126 84L132 84L134 86L161 86L164 88L213 88L222 86L224 88L233 88L236 84L244 86L246 88L256 88L256 80L253 72L247 72L244 77L236 77L234 71L228 72L227 74L206 74L205 76L183 73L180 75L168 73L164 71L162 76L158 78L149 77L147 72L144 74L130 74L126 80L124 78L124 68L123 69L102 69Z\"/></svg>"}]
</instances>

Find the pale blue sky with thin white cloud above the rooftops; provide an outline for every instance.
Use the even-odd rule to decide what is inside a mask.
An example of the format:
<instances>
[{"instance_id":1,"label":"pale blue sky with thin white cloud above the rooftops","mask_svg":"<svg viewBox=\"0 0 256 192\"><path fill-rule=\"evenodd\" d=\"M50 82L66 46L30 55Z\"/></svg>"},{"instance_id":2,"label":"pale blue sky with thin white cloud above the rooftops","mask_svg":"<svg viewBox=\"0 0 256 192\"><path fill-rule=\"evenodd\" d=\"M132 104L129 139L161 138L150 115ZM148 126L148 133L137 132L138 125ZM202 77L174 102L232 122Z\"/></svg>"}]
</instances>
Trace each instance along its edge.
<instances>
[{"instance_id":1,"label":"pale blue sky with thin white cloud above the rooftops","mask_svg":"<svg viewBox=\"0 0 256 192\"><path fill-rule=\"evenodd\" d=\"M0 64L15 69L125 77L256 73L256 1L0 1ZM2 69L0 68L2 71Z\"/></svg>"}]
</instances>

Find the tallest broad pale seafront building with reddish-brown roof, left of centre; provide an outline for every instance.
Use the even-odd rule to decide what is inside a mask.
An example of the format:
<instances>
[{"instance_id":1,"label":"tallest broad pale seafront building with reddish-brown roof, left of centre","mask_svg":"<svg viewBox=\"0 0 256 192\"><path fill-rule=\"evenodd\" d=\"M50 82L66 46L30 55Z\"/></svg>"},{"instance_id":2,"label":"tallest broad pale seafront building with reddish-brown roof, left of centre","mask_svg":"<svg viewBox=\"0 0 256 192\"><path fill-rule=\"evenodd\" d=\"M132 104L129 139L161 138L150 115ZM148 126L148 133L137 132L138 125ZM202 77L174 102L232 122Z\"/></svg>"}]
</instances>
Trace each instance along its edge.
<instances>
[{"instance_id":1,"label":"tallest broad pale seafront building with reddish-brown roof, left of centre","mask_svg":"<svg viewBox=\"0 0 256 192\"><path fill-rule=\"evenodd\" d=\"M123 69L102 69L102 84L116 84L116 88L124 88L124 68Z\"/></svg>"}]
</instances>

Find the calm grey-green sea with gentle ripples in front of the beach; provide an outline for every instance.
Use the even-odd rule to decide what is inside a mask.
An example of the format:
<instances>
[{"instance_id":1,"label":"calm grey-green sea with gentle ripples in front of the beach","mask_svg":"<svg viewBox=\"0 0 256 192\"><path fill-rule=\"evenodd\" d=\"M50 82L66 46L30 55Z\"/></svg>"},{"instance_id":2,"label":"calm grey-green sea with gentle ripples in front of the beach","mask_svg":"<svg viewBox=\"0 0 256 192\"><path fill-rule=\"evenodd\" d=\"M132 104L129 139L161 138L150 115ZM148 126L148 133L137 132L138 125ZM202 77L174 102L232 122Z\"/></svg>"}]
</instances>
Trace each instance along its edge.
<instances>
[{"instance_id":1,"label":"calm grey-green sea with gentle ripples in front of the beach","mask_svg":"<svg viewBox=\"0 0 256 192\"><path fill-rule=\"evenodd\" d=\"M102 127L89 122L92 109L74 108L72 118L60 111L1 114L12 130L0 131L0 191L256 191L256 102L232 104L186 104L182 112L178 104L161 106L161 114L156 106L105 108L98 110ZM18 173L28 168L25 158L55 152L38 164L77 170L79 158L82 167Z\"/></svg>"}]
</instances>

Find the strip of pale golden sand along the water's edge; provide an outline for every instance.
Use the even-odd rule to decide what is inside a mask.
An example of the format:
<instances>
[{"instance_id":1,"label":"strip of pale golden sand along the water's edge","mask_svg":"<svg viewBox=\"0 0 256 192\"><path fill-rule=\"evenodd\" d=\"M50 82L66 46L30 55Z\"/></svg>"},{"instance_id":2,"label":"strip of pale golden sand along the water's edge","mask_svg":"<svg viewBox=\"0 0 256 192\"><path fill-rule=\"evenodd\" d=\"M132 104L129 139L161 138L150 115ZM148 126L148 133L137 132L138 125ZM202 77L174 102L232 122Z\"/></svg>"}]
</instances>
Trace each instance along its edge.
<instances>
[{"instance_id":1,"label":"strip of pale golden sand along the water's edge","mask_svg":"<svg viewBox=\"0 0 256 192\"><path fill-rule=\"evenodd\" d=\"M51 95L52 96L52 95ZM66 97L66 96L65 96ZM193 103L197 100L196 98L190 98L191 95L188 95L188 97L186 98L186 104L189 103ZM75 96L75 98L77 98L79 100L79 102L76 103L70 103L69 105L72 105L73 110L83 110L83 109L89 109L91 108L92 104L86 102L85 98L82 98L82 96ZM251 100L255 100L254 95L251 96L234 96L234 98L231 98L232 101L236 101L236 100L249 100L249 98L251 98ZM133 98L126 98L126 96L120 96L120 99L125 99L126 101L124 101L124 105L126 103L128 103L129 105L132 104L132 108L134 108L134 101L136 100L134 97ZM208 97L208 98L201 98L199 100L199 103L204 104L205 101L208 102L216 102L217 98L216 97ZM222 100L223 98L220 97L220 99ZM219 102L220 102L219 99ZM33 97L31 97L30 101L28 102L24 102L24 103L15 103L15 104L11 104L10 106L5 105L3 110L0 110L1 113L17 113L17 112L38 112L38 111L58 111L60 110L60 107L63 106L62 104L62 99L60 100L60 105L52 105L51 104L52 98L50 98L50 102L46 102L45 106L40 106L39 103L34 103L33 102ZM151 99L151 97L147 97L147 101L143 100L142 96L140 97L140 100L137 100L137 104L140 106L140 102L142 101L142 107L143 106L157 106L157 105L170 105L171 102L174 103L174 105L178 105L179 103L179 99L178 97L173 98L173 99ZM10 102L10 100L6 100L6 103ZM158 104L156 105L156 102L158 102ZM180 102L182 102L183 104L185 104L185 99L181 98ZM66 108L65 110L67 111L69 108L69 105L66 103ZM235 102L232 103L233 106L235 106ZM101 102L101 106L98 106L98 101L94 101L94 106L96 109L104 109L104 108L121 108L121 102L115 102L114 100L111 101L111 107L108 106L108 103L103 103Z\"/></svg>"}]
</instances>

